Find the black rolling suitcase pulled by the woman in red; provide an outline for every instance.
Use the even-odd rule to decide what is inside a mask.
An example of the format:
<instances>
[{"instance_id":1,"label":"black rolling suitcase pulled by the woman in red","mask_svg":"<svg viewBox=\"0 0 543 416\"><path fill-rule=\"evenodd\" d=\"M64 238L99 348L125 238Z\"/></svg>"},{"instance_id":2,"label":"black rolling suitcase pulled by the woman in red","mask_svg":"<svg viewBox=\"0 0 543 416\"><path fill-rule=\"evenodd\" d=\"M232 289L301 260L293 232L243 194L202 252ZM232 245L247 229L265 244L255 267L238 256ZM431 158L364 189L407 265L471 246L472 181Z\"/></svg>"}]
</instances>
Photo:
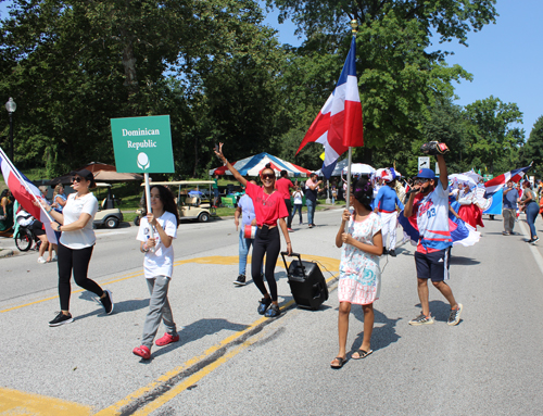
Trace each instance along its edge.
<instances>
[{"instance_id":1,"label":"black rolling suitcase pulled by the woman in red","mask_svg":"<svg viewBox=\"0 0 543 416\"><path fill-rule=\"evenodd\" d=\"M302 307L318 310L323 302L328 300L328 286L320 268L315 262L302 261L296 253L292 253L292 256L298 260L287 266L286 255L287 252L281 252L294 302Z\"/></svg>"}]
</instances>

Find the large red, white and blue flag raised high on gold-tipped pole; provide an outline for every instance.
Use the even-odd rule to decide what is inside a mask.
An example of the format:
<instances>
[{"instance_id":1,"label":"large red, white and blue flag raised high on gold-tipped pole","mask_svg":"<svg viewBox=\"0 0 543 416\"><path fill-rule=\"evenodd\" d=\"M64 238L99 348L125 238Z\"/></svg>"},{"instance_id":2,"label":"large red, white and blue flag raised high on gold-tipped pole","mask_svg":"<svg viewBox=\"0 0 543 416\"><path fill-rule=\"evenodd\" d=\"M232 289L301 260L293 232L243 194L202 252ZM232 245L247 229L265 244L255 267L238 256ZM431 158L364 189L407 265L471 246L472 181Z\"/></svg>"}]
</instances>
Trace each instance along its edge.
<instances>
[{"instance_id":1,"label":"large red, white and blue flag raised high on gold-tipped pole","mask_svg":"<svg viewBox=\"0 0 543 416\"><path fill-rule=\"evenodd\" d=\"M308 142L317 142L325 147L321 172L326 178L330 177L338 157L350 147L364 146L362 104L356 79L355 36L351 41L351 49L336 89L305 134L296 154Z\"/></svg>"}]
</instances>

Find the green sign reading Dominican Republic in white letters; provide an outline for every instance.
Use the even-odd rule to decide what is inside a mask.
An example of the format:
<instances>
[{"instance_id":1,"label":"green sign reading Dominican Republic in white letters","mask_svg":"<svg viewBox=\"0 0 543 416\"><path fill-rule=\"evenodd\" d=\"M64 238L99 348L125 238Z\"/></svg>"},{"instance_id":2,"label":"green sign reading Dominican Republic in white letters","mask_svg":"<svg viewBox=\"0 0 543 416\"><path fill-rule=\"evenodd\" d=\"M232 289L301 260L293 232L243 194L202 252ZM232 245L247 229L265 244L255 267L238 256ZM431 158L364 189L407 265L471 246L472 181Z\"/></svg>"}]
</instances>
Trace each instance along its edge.
<instances>
[{"instance_id":1,"label":"green sign reading Dominican Republic in white letters","mask_svg":"<svg viewBox=\"0 0 543 416\"><path fill-rule=\"evenodd\" d=\"M112 118L111 134L117 172L175 172L169 115Z\"/></svg>"}]
</instances>

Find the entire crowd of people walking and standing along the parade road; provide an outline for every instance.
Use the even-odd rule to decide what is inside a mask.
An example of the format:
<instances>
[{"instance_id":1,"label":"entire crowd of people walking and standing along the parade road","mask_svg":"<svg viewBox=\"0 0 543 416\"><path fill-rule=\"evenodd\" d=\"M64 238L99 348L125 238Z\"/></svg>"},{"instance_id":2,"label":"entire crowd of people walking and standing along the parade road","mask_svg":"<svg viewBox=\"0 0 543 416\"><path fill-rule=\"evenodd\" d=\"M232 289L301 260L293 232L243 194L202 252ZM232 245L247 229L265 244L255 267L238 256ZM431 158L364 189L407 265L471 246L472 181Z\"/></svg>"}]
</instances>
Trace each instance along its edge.
<instances>
[{"instance_id":1,"label":"entire crowd of people walking and standing along the parade road","mask_svg":"<svg viewBox=\"0 0 543 416\"><path fill-rule=\"evenodd\" d=\"M238 202L233 219L239 230L239 275L233 283L247 285L248 254L252 248L251 277L262 295L256 311L269 318L277 317L281 314L275 278L275 267L281 251L280 235L282 234L286 242L287 253L292 254L292 220L298 213L300 224L303 224L301 207L305 197L307 225L310 228L315 226L316 198L323 181L312 175L303 185L292 182L286 171L276 179L275 171L270 165L266 165L260 172L262 186L258 186L256 181L241 176L228 162L223 153L223 143L215 153L245 189L245 194ZM348 192L348 206L353 210L345 209L342 212L341 225L336 236L336 245L341 248L338 283L339 352L330 363L332 368L341 368L348 361L346 338L353 304L362 306L364 330L362 345L351 357L361 360L372 353L372 305L379 299L381 287L379 257L383 254L395 256L399 219L405 235L409 235L416 243L414 259L421 311L409 320L409 325L430 325L434 322L429 308L429 281L450 304L447 324L455 326L460 322L464 306L456 301L446 283L450 278L451 248L459 239L469 239L466 236L476 232L477 226L483 226L483 202L478 197L480 192L471 189L468 184L450 184L444 156L437 154L437 160L440 172L438 177L433 171L422 168L404 187L397 180L394 169L390 168L377 177L355 178ZM98 297L106 314L114 310L111 291L103 290L88 277L96 243L92 219L98 211L98 201L91 192L96 182L92 173L87 169L73 172L72 175L74 193L66 198L63 186L59 185L50 201L45 198L47 190L43 190L43 197L36 202L52 217L51 227L56 232L58 244L48 244L43 224L22 207L16 210L15 215L17 224L31 227L36 236L42 239L38 260L40 263L51 261L52 251L56 252L61 312L49 322L51 327L73 322L70 312L72 275L78 286ZM513 181L507 182L503 191L504 236L514 234L518 210L522 210L530 226L529 242L535 243L539 240L534 220L540 210L543 211L543 207L540 209L538 196L543 190L543 185L539 182L535 188L536 190L532 189L528 180L522 182L520 189ZM333 186L331 190L333 191ZM336 192L334 197L337 196ZM10 209L13 210L9 191L2 192L0 202L0 218L4 219L10 215ZM156 345L164 346L179 340L168 301L174 264L173 240L177 237L179 225L177 205L166 187L153 185L150 188L150 206L151 212L141 219L137 235L140 251L144 254L143 269L150 292L150 305L143 324L141 345L136 346L132 352L143 360L151 357L153 341ZM463 210L466 206L468 209ZM463 224L464 234L458 232L458 227ZM415 237L409 234L408 226L413 226ZM469 244L473 241L478 241L478 238L470 240ZM51 252L46 261L43 254L48 245ZM154 340L161 322L164 323L166 332Z\"/></svg>"}]
</instances>

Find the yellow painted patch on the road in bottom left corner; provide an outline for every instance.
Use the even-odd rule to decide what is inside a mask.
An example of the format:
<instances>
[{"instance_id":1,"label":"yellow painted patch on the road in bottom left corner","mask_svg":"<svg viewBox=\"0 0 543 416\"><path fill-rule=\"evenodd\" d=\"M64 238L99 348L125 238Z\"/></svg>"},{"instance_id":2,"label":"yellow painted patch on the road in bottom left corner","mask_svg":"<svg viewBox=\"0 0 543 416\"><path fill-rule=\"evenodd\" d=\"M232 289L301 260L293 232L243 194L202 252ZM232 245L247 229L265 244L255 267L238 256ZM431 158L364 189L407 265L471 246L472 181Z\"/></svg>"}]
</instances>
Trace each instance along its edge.
<instances>
[{"instance_id":1,"label":"yellow painted patch on the road in bottom left corner","mask_svg":"<svg viewBox=\"0 0 543 416\"><path fill-rule=\"evenodd\" d=\"M0 388L0 414L36 416L88 416L91 407L41 394Z\"/></svg>"}]
</instances>

